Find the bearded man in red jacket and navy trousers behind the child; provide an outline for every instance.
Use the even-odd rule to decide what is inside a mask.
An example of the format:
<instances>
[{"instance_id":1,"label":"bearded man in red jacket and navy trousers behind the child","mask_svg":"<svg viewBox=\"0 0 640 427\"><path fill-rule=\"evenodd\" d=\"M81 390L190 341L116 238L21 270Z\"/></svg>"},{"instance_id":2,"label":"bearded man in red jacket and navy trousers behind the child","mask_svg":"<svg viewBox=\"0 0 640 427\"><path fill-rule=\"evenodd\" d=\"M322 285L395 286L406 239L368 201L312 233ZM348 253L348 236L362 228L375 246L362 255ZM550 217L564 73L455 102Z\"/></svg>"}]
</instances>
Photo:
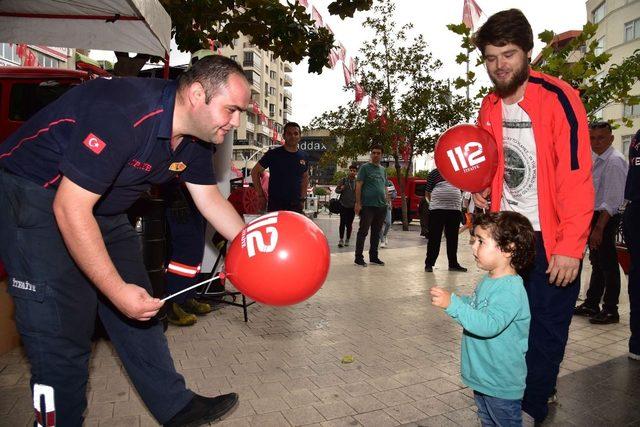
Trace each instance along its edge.
<instances>
[{"instance_id":1,"label":"bearded man in red jacket and navy trousers behind the child","mask_svg":"<svg viewBox=\"0 0 640 427\"><path fill-rule=\"evenodd\" d=\"M491 16L474 34L494 90L478 124L498 148L491 187L476 206L525 215L536 230L536 261L524 277L531 327L522 409L548 413L580 290L581 260L593 215L587 116L576 90L529 67L533 33L517 9Z\"/></svg>"}]
</instances>

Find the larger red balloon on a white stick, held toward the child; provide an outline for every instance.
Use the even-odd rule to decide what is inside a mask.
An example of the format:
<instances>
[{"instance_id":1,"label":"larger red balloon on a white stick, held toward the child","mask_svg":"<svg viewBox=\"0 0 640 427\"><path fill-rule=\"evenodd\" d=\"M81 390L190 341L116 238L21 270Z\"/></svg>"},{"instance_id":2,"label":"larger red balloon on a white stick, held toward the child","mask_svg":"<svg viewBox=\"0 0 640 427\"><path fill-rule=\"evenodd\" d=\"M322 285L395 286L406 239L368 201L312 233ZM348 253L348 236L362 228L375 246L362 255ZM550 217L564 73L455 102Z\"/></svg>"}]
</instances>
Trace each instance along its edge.
<instances>
[{"instance_id":1,"label":"larger red balloon on a white stick, held toward the child","mask_svg":"<svg viewBox=\"0 0 640 427\"><path fill-rule=\"evenodd\" d=\"M255 301L291 305L320 289L329 259L327 238L313 221L295 212L277 211L251 221L233 239L225 276Z\"/></svg>"}]
</instances>

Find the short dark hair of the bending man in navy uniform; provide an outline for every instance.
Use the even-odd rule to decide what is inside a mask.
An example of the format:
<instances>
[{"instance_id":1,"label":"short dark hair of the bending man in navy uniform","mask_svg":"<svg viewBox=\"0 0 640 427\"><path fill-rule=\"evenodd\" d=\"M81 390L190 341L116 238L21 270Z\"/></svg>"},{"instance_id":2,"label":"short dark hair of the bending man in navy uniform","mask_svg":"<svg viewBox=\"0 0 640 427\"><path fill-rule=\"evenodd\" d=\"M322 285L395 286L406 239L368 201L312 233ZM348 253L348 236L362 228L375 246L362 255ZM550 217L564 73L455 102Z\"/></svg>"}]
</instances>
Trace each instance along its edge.
<instances>
[{"instance_id":1,"label":"short dark hair of the bending man in navy uniform","mask_svg":"<svg viewBox=\"0 0 640 427\"><path fill-rule=\"evenodd\" d=\"M208 104L213 95L227 84L232 74L238 74L246 79L244 70L236 61L222 55L205 56L180 74L178 91L193 83L200 83L204 88L205 102Z\"/></svg>"}]
</instances>

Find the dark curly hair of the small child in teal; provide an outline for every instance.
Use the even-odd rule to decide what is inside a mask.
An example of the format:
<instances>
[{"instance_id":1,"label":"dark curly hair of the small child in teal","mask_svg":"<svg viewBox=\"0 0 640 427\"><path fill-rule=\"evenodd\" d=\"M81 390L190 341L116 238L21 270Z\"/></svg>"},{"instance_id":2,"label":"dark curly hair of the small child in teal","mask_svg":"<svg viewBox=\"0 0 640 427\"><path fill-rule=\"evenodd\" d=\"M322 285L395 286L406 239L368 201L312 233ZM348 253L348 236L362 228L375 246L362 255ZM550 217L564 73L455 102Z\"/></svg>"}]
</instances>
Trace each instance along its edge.
<instances>
[{"instance_id":1,"label":"dark curly hair of the small child in teal","mask_svg":"<svg viewBox=\"0 0 640 427\"><path fill-rule=\"evenodd\" d=\"M511 266L522 274L533 264L535 241L533 227L527 218L517 212L489 212L476 214L473 229L483 228L502 252L511 253Z\"/></svg>"}]
</instances>

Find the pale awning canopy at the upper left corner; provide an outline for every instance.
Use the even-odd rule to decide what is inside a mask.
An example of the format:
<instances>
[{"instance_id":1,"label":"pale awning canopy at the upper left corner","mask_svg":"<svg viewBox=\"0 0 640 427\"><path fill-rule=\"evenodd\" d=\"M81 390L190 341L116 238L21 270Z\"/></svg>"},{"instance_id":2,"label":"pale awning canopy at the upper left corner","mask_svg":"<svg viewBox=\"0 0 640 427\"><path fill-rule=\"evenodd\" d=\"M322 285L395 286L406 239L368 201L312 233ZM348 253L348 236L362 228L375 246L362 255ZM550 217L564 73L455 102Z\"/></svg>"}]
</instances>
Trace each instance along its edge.
<instances>
[{"instance_id":1,"label":"pale awning canopy at the upper left corner","mask_svg":"<svg viewBox=\"0 0 640 427\"><path fill-rule=\"evenodd\" d=\"M158 0L2 0L0 41L165 58L171 18Z\"/></svg>"}]
</instances>

